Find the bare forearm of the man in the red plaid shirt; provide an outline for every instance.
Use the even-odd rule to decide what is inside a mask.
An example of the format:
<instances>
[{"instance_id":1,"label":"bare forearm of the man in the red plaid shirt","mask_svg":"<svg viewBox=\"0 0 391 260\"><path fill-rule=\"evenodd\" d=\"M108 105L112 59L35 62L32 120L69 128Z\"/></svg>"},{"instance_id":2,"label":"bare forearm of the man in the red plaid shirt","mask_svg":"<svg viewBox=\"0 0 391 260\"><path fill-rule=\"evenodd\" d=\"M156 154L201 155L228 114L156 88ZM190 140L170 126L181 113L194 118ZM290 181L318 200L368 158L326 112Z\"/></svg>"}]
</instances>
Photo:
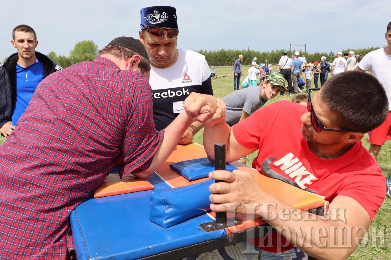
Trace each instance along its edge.
<instances>
[{"instance_id":1,"label":"bare forearm of the man in the red plaid shirt","mask_svg":"<svg viewBox=\"0 0 391 260\"><path fill-rule=\"evenodd\" d=\"M151 166L144 172L133 174L140 179L145 179L151 175L151 173L167 160L183 133L185 133L192 123L193 121L188 119L185 110L183 110L178 117L165 128L163 140L161 141L159 149L153 156Z\"/></svg>"}]
</instances>

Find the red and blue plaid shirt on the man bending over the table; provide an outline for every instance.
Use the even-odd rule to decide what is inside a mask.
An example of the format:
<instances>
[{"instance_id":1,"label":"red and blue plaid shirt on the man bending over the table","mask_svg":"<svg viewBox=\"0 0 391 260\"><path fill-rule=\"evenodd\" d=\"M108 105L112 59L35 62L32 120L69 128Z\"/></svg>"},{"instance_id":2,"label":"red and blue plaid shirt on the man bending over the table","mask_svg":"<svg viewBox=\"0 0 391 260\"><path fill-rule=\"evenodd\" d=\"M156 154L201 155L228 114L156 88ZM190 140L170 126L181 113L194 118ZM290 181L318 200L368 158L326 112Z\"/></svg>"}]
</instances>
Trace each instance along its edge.
<instances>
[{"instance_id":1,"label":"red and blue plaid shirt on the man bending over the table","mask_svg":"<svg viewBox=\"0 0 391 260\"><path fill-rule=\"evenodd\" d=\"M71 211L119 156L121 176L146 170L163 134L142 75L100 57L48 76L0 146L0 258L67 258Z\"/></svg>"}]
</instances>

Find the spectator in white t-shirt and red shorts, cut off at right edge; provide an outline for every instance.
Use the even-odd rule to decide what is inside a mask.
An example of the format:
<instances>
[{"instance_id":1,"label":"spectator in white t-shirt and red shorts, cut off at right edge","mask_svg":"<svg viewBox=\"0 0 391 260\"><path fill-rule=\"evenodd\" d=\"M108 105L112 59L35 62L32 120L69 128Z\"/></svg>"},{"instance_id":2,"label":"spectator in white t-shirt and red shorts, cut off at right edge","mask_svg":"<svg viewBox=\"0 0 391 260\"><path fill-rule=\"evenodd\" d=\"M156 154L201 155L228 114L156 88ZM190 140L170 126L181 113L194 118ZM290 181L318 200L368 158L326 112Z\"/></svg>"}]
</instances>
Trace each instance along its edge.
<instances>
[{"instance_id":1,"label":"spectator in white t-shirt and red shorts, cut off at right edge","mask_svg":"<svg viewBox=\"0 0 391 260\"><path fill-rule=\"evenodd\" d=\"M391 140L391 22L387 25L385 34L387 46L375 51L371 51L362 58L359 65L355 68L357 71L369 70L369 73L375 76L382 83L386 90L388 98L389 113L386 120L378 128L368 134L369 146L368 152L377 160L377 156L386 140ZM379 97L374 97L379 98ZM374 115L378 116L378 115ZM388 179L390 188L391 179ZM387 195L391 197L391 191L388 189Z\"/></svg>"}]
</instances>

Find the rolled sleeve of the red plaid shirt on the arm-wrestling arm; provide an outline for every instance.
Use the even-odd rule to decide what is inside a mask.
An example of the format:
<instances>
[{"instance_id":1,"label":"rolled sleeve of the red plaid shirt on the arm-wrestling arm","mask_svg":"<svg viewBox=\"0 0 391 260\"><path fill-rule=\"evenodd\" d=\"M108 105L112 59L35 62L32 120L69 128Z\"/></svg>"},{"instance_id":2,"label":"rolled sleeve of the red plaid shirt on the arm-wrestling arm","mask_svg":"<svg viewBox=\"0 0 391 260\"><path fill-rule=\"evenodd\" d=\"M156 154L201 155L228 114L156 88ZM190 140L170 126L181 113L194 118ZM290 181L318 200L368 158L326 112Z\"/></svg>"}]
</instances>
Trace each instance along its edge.
<instances>
[{"instance_id":1,"label":"rolled sleeve of the red plaid shirt on the arm-wrestling arm","mask_svg":"<svg viewBox=\"0 0 391 260\"><path fill-rule=\"evenodd\" d=\"M152 116L152 89L146 78L135 78L130 87L126 134L122 161L125 166L119 174L124 178L131 172L149 168L155 152L163 140L164 130L156 132Z\"/></svg>"}]
</instances>

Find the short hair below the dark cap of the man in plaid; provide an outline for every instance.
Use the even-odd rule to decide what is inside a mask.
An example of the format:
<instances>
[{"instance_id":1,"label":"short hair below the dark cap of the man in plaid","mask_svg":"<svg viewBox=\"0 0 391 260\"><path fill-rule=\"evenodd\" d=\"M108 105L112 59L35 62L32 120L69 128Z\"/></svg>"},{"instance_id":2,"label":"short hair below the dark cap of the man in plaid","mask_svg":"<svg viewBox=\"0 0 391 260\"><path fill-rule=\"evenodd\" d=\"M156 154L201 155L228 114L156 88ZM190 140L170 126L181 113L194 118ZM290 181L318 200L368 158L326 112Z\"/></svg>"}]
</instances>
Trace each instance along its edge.
<instances>
[{"instance_id":1,"label":"short hair below the dark cap of the man in plaid","mask_svg":"<svg viewBox=\"0 0 391 260\"><path fill-rule=\"evenodd\" d=\"M144 56L142 56L139 53L136 53L135 51L130 50L126 47L119 46L119 45L113 45L113 44L108 45L99 51L98 57L102 56L106 53L109 53L116 58L124 59L124 60L130 59L134 55L139 55L141 60L140 60L140 63L138 64L138 68L140 69L141 73L144 73L145 71L151 70L151 64L149 64L148 60Z\"/></svg>"}]
</instances>

